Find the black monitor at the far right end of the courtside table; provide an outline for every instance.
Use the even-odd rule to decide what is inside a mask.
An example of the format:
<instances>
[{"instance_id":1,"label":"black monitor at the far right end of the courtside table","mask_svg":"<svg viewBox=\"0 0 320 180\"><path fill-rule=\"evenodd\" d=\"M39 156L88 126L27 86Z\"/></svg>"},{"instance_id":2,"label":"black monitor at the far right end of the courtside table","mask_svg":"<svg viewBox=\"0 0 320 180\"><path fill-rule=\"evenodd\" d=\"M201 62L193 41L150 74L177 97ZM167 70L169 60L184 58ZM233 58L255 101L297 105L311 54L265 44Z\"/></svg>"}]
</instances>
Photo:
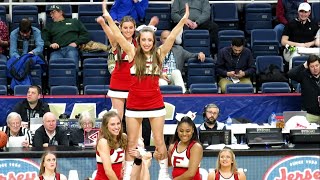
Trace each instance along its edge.
<instances>
[{"instance_id":1,"label":"black monitor at the far right end of the courtside table","mask_svg":"<svg viewBox=\"0 0 320 180\"><path fill-rule=\"evenodd\" d=\"M289 139L292 144L319 144L320 129L290 130Z\"/></svg>"}]
</instances>

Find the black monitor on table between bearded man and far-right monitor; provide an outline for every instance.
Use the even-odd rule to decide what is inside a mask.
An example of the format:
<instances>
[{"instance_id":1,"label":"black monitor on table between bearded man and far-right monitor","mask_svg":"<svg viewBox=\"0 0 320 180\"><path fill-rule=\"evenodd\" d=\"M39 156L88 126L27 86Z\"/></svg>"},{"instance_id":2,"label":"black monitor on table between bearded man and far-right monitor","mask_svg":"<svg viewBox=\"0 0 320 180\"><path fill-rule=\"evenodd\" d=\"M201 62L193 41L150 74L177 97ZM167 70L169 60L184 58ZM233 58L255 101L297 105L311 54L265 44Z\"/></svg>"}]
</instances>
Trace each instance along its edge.
<instances>
[{"instance_id":1,"label":"black monitor on table between bearded man and far-right monitor","mask_svg":"<svg viewBox=\"0 0 320 180\"><path fill-rule=\"evenodd\" d=\"M246 139L249 146L284 144L281 128L247 128Z\"/></svg>"}]
</instances>

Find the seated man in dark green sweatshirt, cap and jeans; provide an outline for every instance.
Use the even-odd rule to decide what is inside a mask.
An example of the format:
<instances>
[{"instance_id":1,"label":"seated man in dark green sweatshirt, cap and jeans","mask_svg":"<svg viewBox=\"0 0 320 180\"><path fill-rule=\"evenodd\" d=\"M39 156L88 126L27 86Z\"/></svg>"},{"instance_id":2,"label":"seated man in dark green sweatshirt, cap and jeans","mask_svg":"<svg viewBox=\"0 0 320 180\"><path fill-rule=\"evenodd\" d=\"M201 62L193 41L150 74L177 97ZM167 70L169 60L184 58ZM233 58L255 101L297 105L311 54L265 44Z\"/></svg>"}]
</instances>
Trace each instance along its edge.
<instances>
[{"instance_id":1,"label":"seated man in dark green sweatshirt, cap and jeans","mask_svg":"<svg viewBox=\"0 0 320 180\"><path fill-rule=\"evenodd\" d=\"M61 6L49 8L52 23L47 24L42 37L46 47L51 48L50 59L71 58L79 68L79 46L90 41L89 33L77 19L65 19Z\"/></svg>"}]
</instances>

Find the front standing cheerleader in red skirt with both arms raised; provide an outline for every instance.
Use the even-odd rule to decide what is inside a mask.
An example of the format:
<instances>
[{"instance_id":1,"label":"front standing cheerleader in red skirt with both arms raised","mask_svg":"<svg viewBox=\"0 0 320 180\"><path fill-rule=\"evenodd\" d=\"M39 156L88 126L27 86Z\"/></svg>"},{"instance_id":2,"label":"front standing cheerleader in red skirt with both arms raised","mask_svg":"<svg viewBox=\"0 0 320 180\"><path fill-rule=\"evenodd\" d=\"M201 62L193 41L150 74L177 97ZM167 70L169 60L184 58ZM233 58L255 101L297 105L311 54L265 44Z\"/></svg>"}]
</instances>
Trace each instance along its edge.
<instances>
[{"instance_id":1,"label":"front standing cheerleader in red skirt with both arms raised","mask_svg":"<svg viewBox=\"0 0 320 180\"><path fill-rule=\"evenodd\" d=\"M131 82L129 86L129 95L126 103L126 124L128 134L128 149L134 149L137 146L139 131L142 118L149 118L151 129L158 152L157 159L160 163L159 179L168 178L168 158L167 149L164 143L163 127L165 121L165 106L161 91L159 88L159 76L161 73L162 61L170 51L176 36L182 30L189 17L189 6L186 4L186 13L175 28L171 31L167 40L159 48L156 47L155 32L150 27L140 30L135 48L130 44L117 25L113 22L106 8L106 2L103 3L103 16L108 21L112 30L114 39L117 40L120 47L126 52L130 68ZM126 154L126 168L124 179L130 179L134 157Z\"/></svg>"}]
</instances>

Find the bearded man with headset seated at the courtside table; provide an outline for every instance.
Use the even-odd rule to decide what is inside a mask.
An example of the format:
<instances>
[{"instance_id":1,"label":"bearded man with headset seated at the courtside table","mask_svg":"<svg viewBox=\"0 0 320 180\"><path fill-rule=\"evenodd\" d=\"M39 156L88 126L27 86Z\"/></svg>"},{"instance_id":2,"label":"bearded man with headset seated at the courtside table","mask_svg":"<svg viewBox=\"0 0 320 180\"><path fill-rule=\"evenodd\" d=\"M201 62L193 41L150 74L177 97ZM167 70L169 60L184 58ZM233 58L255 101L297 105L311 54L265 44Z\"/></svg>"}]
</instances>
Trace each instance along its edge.
<instances>
[{"instance_id":1,"label":"bearded man with headset seated at the courtside table","mask_svg":"<svg viewBox=\"0 0 320 180\"><path fill-rule=\"evenodd\" d=\"M204 131L204 130L226 130L226 126L224 123L218 121L218 117L220 114L220 109L216 104L207 104L203 108L203 123L198 126L197 131ZM233 135L232 144L237 143L236 137Z\"/></svg>"}]
</instances>

